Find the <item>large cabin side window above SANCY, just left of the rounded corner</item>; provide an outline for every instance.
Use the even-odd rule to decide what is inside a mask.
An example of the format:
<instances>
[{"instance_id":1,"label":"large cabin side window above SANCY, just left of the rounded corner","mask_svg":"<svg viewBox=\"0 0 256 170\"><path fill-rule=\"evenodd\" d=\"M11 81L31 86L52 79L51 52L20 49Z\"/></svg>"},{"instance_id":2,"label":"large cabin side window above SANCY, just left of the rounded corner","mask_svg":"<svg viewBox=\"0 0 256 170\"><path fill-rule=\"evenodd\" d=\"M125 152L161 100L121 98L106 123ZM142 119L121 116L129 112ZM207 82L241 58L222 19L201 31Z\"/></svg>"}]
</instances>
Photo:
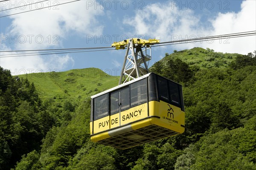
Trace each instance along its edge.
<instances>
[{"instance_id":1,"label":"large cabin side window above SANCY, just left of the rounded corner","mask_svg":"<svg viewBox=\"0 0 256 170\"><path fill-rule=\"evenodd\" d=\"M130 85L131 88L131 107L147 102L147 81L142 79Z\"/></svg>"}]
</instances>

